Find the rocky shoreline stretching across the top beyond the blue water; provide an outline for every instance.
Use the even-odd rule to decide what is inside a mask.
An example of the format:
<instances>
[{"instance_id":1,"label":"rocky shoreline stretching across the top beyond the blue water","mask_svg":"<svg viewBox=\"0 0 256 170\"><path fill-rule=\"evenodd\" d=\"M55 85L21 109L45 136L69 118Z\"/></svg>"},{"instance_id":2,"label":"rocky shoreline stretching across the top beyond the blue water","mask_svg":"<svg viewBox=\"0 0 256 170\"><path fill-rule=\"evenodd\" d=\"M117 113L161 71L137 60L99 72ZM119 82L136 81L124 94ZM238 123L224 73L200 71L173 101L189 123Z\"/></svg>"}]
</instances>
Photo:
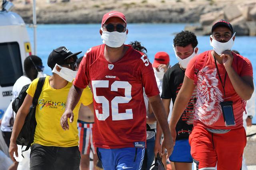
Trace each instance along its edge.
<instances>
[{"instance_id":1,"label":"rocky shoreline stretching across the top beyond the blue water","mask_svg":"<svg viewBox=\"0 0 256 170\"><path fill-rule=\"evenodd\" d=\"M13 3L13 11L32 23L32 4ZM37 23L43 24L100 23L103 14L118 10L129 23L200 23L186 27L198 35L208 35L210 25L225 18L236 35L256 35L256 0L37 0L36 5Z\"/></svg>"}]
</instances>

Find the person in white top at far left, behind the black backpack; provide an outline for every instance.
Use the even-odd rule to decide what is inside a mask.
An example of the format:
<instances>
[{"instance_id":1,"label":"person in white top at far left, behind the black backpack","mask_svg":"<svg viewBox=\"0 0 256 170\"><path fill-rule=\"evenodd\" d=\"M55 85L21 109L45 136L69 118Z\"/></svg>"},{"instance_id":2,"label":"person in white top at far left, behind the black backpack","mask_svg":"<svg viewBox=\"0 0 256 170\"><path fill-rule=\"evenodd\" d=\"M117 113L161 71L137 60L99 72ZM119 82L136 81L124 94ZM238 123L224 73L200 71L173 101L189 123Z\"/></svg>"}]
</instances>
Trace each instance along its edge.
<instances>
[{"instance_id":1,"label":"person in white top at far left, behind the black backpack","mask_svg":"<svg viewBox=\"0 0 256 170\"><path fill-rule=\"evenodd\" d=\"M12 88L12 102L18 97L23 86L30 84L35 78L43 77L43 71L44 66L42 64L42 60L38 56L30 55L26 57L24 60L23 76L16 80ZM12 127L14 123L14 111L12 110L12 102L10 102L9 106L7 107L1 124L2 136L4 137L4 141L8 148L10 146L10 138L12 135ZM20 164L23 164L23 167L29 169L30 150L24 152L24 155L24 159L22 159ZM10 166L9 170L16 170L18 168L18 164L19 162L14 162L14 164Z\"/></svg>"}]
</instances>

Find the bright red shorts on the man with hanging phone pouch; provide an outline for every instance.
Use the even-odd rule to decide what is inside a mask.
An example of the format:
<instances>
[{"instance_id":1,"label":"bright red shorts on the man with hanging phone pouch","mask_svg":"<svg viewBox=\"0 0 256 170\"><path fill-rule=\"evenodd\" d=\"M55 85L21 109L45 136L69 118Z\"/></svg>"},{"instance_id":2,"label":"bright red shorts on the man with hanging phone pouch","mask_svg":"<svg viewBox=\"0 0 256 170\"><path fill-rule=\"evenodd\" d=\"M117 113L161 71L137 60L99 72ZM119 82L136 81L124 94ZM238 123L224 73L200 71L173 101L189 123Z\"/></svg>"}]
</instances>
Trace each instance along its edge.
<instances>
[{"instance_id":1,"label":"bright red shorts on the man with hanging phone pouch","mask_svg":"<svg viewBox=\"0 0 256 170\"><path fill-rule=\"evenodd\" d=\"M216 164L217 170L240 170L246 132L241 127L217 134L195 126L189 136L189 144L196 170L215 170Z\"/></svg>"}]
</instances>

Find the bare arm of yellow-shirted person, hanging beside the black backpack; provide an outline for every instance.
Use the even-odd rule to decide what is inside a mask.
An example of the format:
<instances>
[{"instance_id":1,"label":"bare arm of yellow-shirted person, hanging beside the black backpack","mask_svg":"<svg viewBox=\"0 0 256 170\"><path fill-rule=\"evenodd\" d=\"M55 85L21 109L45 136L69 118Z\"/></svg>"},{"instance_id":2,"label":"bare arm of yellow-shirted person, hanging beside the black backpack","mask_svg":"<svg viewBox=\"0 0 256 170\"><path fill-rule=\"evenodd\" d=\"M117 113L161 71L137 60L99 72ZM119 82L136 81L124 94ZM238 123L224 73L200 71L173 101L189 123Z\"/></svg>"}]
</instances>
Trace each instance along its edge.
<instances>
[{"instance_id":1,"label":"bare arm of yellow-shirted person, hanging beside the black backpack","mask_svg":"<svg viewBox=\"0 0 256 170\"><path fill-rule=\"evenodd\" d=\"M20 133L20 130L22 129L22 127L24 125L25 118L28 115L30 106L32 105L32 100L33 100L33 98L27 94L26 98L24 99L24 102L23 102L22 106L20 107L20 109L18 110L15 120L14 120L12 136L10 138L10 147L9 147L10 158L14 162L16 162L16 160L13 157L13 153L15 152L16 157L18 157L18 147L16 144L16 139Z\"/></svg>"}]
</instances>

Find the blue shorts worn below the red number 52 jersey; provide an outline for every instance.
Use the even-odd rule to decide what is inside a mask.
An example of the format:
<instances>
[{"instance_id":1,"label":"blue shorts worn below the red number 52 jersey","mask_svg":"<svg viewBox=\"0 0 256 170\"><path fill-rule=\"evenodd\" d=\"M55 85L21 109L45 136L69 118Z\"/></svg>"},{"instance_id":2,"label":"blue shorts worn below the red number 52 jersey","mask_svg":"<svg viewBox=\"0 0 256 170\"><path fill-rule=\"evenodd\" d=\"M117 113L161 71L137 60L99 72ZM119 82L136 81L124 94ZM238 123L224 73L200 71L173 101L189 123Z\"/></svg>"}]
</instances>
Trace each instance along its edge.
<instances>
[{"instance_id":1,"label":"blue shorts worn below the red number 52 jersey","mask_svg":"<svg viewBox=\"0 0 256 170\"><path fill-rule=\"evenodd\" d=\"M104 170L141 170L145 148L97 148Z\"/></svg>"}]
</instances>

